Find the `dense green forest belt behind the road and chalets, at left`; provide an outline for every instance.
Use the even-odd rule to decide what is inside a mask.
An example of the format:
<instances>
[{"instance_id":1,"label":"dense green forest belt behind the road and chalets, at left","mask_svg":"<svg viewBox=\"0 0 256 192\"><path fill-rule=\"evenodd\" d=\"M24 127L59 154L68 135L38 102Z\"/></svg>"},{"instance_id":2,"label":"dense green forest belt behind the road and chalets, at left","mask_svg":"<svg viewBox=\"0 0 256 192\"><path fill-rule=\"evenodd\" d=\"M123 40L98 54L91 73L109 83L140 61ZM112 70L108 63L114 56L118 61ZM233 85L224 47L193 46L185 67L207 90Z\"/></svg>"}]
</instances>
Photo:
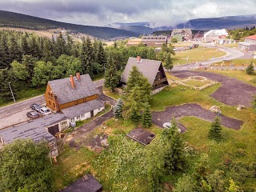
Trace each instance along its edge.
<instances>
[{"instance_id":1,"label":"dense green forest belt behind the road and chalets, at left","mask_svg":"<svg viewBox=\"0 0 256 192\"><path fill-rule=\"evenodd\" d=\"M38 37L36 34L0 31L0 104L15 98L20 92L46 86L53 79L66 78L80 72L91 78L104 74L111 58L118 70L122 70L129 57L163 60L166 50L155 54L154 48L146 46L126 47L126 42L115 43L104 49L100 41L82 38L74 42L69 35L58 34L56 39ZM170 49L171 50L171 49Z\"/></svg>"}]
</instances>

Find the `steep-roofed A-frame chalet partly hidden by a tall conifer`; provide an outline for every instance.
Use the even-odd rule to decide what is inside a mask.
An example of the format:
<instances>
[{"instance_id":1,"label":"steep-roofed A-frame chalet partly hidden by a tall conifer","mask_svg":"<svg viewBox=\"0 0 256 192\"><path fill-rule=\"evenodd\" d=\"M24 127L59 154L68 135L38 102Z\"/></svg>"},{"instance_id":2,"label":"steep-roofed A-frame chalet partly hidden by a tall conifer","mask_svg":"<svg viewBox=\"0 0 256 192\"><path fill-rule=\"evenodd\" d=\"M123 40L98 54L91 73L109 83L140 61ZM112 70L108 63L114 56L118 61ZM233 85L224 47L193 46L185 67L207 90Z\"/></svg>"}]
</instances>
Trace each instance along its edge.
<instances>
[{"instance_id":1,"label":"steep-roofed A-frame chalet partly hidden by a tall conifer","mask_svg":"<svg viewBox=\"0 0 256 192\"><path fill-rule=\"evenodd\" d=\"M123 71L121 78L123 85L126 85L130 70L132 70L133 66L136 66L138 70L142 72L143 76L149 80L153 90L162 90L164 86L169 85L165 71L163 70L162 62L144 59L139 56L137 58L128 59L126 69Z\"/></svg>"}]
</instances>

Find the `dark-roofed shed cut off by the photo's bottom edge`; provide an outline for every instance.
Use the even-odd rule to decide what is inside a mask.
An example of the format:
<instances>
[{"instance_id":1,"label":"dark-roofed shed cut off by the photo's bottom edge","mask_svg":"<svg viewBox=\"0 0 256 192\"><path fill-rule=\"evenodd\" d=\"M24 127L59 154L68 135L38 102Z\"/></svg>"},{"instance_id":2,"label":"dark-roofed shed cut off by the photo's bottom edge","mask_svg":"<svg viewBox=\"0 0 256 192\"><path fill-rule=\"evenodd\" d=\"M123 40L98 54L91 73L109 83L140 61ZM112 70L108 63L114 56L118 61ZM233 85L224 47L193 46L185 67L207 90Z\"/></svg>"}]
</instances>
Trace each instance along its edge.
<instances>
[{"instance_id":1,"label":"dark-roofed shed cut off by the photo's bottom edge","mask_svg":"<svg viewBox=\"0 0 256 192\"><path fill-rule=\"evenodd\" d=\"M78 178L67 186L62 192L101 192L102 185L90 174Z\"/></svg>"}]
</instances>

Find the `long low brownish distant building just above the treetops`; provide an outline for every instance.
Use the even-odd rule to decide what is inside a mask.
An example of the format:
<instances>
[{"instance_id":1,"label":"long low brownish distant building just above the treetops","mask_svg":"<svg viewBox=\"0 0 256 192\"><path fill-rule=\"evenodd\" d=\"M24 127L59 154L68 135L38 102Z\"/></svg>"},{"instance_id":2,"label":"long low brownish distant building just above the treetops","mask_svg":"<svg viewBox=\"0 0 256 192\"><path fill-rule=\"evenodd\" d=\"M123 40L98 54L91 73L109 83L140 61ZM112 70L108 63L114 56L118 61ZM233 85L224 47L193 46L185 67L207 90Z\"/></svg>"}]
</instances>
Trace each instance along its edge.
<instances>
[{"instance_id":1,"label":"long low brownish distant building just above the treetops","mask_svg":"<svg viewBox=\"0 0 256 192\"><path fill-rule=\"evenodd\" d=\"M146 46L155 46L161 47L162 44L167 44L167 36L158 35L158 36L143 36L142 37L142 45Z\"/></svg>"}]
</instances>

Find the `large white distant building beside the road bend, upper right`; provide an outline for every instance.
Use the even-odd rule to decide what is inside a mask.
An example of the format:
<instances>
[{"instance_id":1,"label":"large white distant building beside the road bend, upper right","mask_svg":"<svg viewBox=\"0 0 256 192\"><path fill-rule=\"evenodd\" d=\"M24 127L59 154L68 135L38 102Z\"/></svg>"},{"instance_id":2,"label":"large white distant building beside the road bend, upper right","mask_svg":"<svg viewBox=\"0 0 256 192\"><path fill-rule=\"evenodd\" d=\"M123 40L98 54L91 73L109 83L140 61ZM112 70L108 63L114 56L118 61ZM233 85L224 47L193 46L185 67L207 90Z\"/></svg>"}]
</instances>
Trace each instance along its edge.
<instances>
[{"instance_id":1,"label":"large white distant building beside the road bend, upper right","mask_svg":"<svg viewBox=\"0 0 256 192\"><path fill-rule=\"evenodd\" d=\"M220 39L226 39L228 32L225 29L222 30L209 30L203 35L204 42L219 42Z\"/></svg>"}]
</instances>

